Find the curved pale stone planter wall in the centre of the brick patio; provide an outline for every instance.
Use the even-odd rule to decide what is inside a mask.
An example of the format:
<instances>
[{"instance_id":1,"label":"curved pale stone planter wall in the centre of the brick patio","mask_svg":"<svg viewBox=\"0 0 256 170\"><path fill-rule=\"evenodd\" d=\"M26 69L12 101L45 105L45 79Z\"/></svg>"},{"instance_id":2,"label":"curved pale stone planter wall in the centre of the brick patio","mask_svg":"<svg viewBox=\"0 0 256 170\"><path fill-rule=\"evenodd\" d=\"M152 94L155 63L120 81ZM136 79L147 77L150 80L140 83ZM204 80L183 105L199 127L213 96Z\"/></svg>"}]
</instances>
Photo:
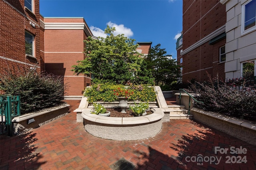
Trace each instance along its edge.
<instances>
[{"instance_id":1,"label":"curved pale stone planter wall in the centre of the brick patio","mask_svg":"<svg viewBox=\"0 0 256 170\"><path fill-rule=\"evenodd\" d=\"M151 115L140 117L103 117L90 114L84 109L85 130L100 138L111 140L138 140L154 136L162 128L164 112L160 108L152 109Z\"/></svg>"}]
</instances>

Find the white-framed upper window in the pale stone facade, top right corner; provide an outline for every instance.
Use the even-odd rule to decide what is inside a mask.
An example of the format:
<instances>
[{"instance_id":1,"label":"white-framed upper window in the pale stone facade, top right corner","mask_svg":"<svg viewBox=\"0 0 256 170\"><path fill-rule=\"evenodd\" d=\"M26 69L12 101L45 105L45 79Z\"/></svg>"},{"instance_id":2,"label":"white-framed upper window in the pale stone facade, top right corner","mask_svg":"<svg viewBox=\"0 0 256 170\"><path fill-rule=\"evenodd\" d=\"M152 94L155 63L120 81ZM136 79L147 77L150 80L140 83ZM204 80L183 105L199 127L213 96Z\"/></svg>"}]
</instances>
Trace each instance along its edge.
<instances>
[{"instance_id":1,"label":"white-framed upper window in the pale stone facade, top right corner","mask_svg":"<svg viewBox=\"0 0 256 170\"><path fill-rule=\"evenodd\" d=\"M242 34L256 29L256 0L242 5Z\"/></svg>"}]
</instances>

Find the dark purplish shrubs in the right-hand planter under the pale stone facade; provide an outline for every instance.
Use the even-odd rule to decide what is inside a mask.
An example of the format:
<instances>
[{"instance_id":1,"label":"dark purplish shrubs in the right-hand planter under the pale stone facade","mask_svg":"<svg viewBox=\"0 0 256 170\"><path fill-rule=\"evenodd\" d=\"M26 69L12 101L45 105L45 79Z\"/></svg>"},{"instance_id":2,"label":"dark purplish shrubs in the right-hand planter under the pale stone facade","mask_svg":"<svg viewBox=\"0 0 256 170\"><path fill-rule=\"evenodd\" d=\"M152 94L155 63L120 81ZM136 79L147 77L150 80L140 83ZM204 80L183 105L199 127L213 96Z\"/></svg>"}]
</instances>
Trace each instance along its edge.
<instances>
[{"instance_id":1,"label":"dark purplish shrubs in the right-hand planter under the pale stone facade","mask_svg":"<svg viewBox=\"0 0 256 170\"><path fill-rule=\"evenodd\" d=\"M256 85L233 88L217 77L208 83L197 82L190 89L199 94L198 101L204 102L194 103L196 108L256 121Z\"/></svg>"}]
</instances>

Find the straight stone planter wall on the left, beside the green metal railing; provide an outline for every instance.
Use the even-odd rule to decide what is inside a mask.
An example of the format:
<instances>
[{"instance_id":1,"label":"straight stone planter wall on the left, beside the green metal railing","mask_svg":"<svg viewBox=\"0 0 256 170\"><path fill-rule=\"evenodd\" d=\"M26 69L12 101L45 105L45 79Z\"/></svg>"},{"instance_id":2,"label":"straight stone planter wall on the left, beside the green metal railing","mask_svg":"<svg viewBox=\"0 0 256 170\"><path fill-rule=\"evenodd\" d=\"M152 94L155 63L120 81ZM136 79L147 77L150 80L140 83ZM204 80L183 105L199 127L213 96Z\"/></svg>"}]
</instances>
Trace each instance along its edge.
<instances>
[{"instance_id":1,"label":"straight stone planter wall on the left, beside the green metal railing","mask_svg":"<svg viewBox=\"0 0 256 170\"><path fill-rule=\"evenodd\" d=\"M50 121L58 119L68 113L68 107L70 105L60 105L57 107L51 107L44 111L36 113L28 113L22 116L14 117L12 123L14 126L14 134L23 134L30 129L38 128ZM34 122L28 124L29 120L34 119Z\"/></svg>"}]
</instances>

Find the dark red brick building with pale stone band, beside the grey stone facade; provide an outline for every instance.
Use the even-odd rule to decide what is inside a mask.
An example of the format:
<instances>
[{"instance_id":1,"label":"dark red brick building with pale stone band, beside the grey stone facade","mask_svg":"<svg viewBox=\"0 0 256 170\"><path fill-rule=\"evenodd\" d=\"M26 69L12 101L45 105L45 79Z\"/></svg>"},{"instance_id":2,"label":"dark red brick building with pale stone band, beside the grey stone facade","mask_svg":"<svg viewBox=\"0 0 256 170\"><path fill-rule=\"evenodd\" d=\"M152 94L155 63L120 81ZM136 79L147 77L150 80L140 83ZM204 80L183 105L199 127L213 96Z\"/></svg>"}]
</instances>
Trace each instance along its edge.
<instances>
[{"instance_id":1,"label":"dark red brick building with pale stone band, beside the grey stone facade","mask_svg":"<svg viewBox=\"0 0 256 170\"><path fill-rule=\"evenodd\" d=\"M184 0L182 36L176 43L182 82L225 80L226 10L219 0Z\"/></svg>"}]
</instances>

